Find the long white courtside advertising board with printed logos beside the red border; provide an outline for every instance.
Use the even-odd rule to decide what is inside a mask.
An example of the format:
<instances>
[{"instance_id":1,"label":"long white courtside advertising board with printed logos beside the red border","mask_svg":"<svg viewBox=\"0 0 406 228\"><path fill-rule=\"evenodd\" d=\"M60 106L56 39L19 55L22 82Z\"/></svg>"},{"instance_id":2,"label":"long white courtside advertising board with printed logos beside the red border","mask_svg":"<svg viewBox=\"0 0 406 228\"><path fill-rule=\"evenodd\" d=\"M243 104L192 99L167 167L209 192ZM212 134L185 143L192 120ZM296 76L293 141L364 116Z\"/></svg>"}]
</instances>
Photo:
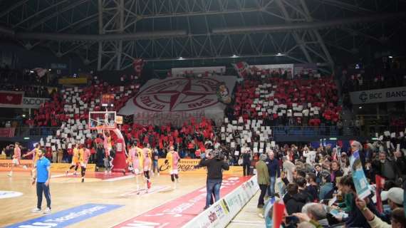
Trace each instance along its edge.
<instances>
[{"instance_id":1,"label":"long white courtside advertising board with printed logos beside the red border","mask_svg":"<svg viewBox=\"0 0 406 228\"><path fill-rule=\"evenodd\" d=\"M182 228L226 227L259 190L256 178L256 175L251 177L229 195L184 224Z\"/></svg>"}]
</instances>

